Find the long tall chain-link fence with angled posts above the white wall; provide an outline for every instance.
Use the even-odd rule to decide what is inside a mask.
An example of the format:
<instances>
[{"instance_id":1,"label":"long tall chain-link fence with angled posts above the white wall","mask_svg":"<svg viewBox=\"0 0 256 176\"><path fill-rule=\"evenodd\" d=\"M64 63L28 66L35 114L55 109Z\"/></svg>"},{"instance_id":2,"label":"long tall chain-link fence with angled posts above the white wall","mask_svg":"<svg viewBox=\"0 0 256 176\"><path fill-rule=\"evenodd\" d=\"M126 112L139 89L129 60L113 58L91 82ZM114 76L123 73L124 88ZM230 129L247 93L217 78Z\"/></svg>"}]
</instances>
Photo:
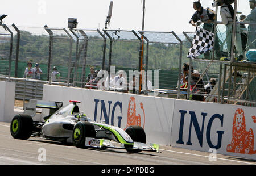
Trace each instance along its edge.
<instances>
[{"instance_id":1,"label":"long tall chain-link fence with angled posts above the white wall","mask_svg":"<svg viewBox=\"0 0 256 176\"><path fill-rule=\"evenodd\" d=\"M238 65L244 63L236 62L238 65L232 65L232 73L238 73L238 76L234 76L229 73L232 64L229 60L219 61L215 57L213 60L201 60L204 56L190 60L186 56L194 32L176 35L175 32L66 30L47 26L10 26L9 30L3 26L1 28L1 76L10 74L11 77L23 78L27 62L31 61L33 67L36 63L40 65L43 72L40 79L43 81L51 83L51 73L56 66L60 73L57 81L69 86L86 87L90 67L107 70L109 73L110 66L115 66L115 72L124 70L126 73L142 68L146 73L152 71L150 81L153 86L156 79L154 71L159 73L159 84L155 87L158 90L153 91L172 94L176 98L180 98L179 95L182 94L187 99L199 100L197 98L201 97L200 100L209 102L255 106L253 63L245 62L248 69L242 70L243 66ZM225 30L217 31L219 44L225 51ZM185 63L193 66L196 73L200 73L197 78L187 74L189 89L178 86L182 85L181 76ZM239 71L236 72L234 68Z\"/></svg>"}]
</instances>

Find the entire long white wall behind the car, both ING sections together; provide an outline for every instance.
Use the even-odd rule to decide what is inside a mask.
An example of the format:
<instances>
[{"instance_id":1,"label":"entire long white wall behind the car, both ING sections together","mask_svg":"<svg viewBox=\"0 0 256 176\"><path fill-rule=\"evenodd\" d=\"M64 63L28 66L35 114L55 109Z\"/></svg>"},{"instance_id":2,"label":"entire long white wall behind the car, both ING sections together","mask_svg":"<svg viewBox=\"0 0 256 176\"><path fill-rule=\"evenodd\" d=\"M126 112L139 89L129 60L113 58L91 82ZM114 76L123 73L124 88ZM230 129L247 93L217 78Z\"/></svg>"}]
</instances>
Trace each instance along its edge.
<instances>
[{"instance_id":1,"label":"entire long white wall behind the car, both ING sections together","mask_svg":"<svg viewBox=\"0 0 256 176\"><path fill-rule=\"evenodd\" d=\"M54 85L44 85L43 100L80 100L80 111L92 120L123 129L141 125L147 142L256 160L255 107Z\"/></svg>"}]
</instances>

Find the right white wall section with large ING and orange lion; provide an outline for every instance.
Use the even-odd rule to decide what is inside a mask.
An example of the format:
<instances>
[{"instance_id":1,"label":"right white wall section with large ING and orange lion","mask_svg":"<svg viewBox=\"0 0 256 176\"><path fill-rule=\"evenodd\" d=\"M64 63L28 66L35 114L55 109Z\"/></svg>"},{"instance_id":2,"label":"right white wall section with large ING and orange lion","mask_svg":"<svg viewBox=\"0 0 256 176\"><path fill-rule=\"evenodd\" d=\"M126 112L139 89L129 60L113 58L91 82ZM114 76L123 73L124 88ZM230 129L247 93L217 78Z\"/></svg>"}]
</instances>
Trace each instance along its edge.
<instances>
[{"instance_id":1,"label":"right white wall section with large ING and orange lion","mask_svg":"<svg viewBox=\"0 0 256 176\"><path fill-rule=\"evenodd\" d=\"M256 108L175 100L171 145L256 159Z\"/></svg>"}]
</instances>

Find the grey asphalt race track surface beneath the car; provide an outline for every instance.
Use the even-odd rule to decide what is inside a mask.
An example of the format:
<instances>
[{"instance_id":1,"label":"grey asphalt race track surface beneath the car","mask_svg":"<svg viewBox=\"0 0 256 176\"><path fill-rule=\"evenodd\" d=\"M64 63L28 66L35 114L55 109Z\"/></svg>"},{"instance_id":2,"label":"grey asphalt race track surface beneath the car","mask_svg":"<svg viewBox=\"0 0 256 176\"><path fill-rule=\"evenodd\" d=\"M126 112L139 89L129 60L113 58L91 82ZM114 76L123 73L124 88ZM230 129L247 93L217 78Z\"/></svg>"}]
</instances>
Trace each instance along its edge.
<instances>
[{"instance_id":1,"label":"grey asphalt race track surface beneath the car","mask_svg":"<svg viewBox=\"0 0 256 176\"><path fill-rule=\"evenodd\" d=\"M160 152L80 149L35 137L16 140L10 123L0 123L0 165L256 165L253 160L221 154L210 161L210 153L171 146L160 146Z\"/></svg>"}]
</instances>

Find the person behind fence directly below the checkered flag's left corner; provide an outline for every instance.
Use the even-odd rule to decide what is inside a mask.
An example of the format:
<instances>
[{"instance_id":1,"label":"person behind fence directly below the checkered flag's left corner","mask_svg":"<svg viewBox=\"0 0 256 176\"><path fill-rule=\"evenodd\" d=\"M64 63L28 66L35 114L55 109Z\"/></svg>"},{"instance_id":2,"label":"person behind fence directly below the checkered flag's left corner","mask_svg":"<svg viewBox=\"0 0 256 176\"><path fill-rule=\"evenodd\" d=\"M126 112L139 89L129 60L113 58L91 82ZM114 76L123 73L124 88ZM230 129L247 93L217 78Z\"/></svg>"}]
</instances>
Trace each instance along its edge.
<instances>
[{"instance_id":1,"label":"person behind fence directly below the checkered flag's left corner","mask_svg":"<svg viewBox=\"0 0 256 176\"><path fill-rule=\"evenodd\" d=\"M185 78L183 78L183 82L188 82L189 63L184 64L183 67L187 68L187 70L184 72L185 75L187 75L187 76ZM193 66L191 66L190 91L192 91L193 94L191 95L191 97L189 99L197 100L197 101L203 101L204 100L204 95L194 95L195 93L205 94L204 81L203 81L203 78L199 80L200 77L201 77L201 74L199 73L199 71L194 70Z\"/></svg>"}]
</instances>

